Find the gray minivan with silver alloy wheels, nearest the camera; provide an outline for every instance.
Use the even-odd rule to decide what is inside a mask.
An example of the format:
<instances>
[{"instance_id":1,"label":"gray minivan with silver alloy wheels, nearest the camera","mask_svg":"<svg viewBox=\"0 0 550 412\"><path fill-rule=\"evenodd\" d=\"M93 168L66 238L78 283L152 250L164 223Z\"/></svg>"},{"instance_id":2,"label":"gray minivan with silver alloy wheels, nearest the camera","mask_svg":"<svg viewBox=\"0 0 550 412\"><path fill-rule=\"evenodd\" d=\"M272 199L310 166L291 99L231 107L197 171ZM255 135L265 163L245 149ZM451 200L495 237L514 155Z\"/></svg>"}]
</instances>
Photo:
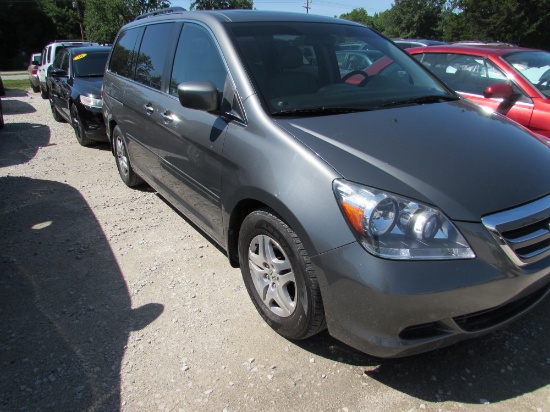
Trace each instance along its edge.
<instances>
[{"instance_id":1,"label":"gray minivan with silver alloy wheels, nearest the camera","mask_svg":"<svg viewBox=\"0 0 550 412\"><path fill-rule=\"evenodd\" d=\"M392 67L350 84L335 39ZM288 339L410 355L549 294L550 149L374 30L165 9L120 30L103 91L121 179L218 243Z\"/></svg>"}]
</instances>

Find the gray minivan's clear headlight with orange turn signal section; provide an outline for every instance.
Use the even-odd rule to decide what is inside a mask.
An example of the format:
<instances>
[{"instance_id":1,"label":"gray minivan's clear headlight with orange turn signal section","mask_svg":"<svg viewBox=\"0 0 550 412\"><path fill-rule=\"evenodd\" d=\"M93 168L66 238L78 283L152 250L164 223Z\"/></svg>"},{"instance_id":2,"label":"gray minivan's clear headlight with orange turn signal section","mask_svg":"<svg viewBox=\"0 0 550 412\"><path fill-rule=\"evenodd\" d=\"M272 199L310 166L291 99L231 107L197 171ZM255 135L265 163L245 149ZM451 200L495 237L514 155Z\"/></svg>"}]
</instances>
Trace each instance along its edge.
<instances>
[{"instance_id":1,"label":"gray minivan's clear headlight with orange turn signal section","mask_svg":"<svg viewBox=\"0 0 550 412\"><path fill-rule=\"evenodd\" d=\"M438 209L345 180L334 193L357 239L387 259L472 259L474 252Z\"/></svg>"}]
</instances>

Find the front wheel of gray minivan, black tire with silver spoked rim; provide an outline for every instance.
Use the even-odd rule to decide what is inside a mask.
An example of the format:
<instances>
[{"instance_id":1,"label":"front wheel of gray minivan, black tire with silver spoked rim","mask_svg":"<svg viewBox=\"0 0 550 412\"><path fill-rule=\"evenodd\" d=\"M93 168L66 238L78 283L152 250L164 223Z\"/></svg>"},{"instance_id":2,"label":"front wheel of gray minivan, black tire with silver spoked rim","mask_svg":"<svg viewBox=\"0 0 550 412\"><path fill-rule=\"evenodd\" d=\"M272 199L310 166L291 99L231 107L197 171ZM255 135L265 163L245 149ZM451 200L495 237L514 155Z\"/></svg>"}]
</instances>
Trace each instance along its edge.
<instances>
[{"instance_id":1,"label":"front wheel of gray minivan, black tire with silver spoked rim","mask_svg":"<svg viewBox=\"0 0 550 412\"><path fill-rule=\"evenodd\" d=\"M270 209L250 213L239 233L246 289L269 326L300 340L326 328L317 275L302 242Z\"/></svg>"}]
</instances>

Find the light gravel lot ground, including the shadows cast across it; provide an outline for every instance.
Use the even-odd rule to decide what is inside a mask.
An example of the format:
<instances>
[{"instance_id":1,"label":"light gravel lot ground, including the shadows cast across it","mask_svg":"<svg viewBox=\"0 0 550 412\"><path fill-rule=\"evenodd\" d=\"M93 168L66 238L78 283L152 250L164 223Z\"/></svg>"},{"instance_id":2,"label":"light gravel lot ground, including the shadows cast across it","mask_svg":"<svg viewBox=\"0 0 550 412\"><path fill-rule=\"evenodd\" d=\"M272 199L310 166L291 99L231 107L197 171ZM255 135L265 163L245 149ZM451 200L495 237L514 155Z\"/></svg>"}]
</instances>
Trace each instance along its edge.
<instances>
[{"instance_id":1,"label":"light gravel lot ground, including the shadows cast across it","mask_svg":"<svg viewBox=\"0 0 550 412\"><path fill-rule=\"evenodd\" d=\"M0 411L550 411L548 300L383 360L267 327L224 253L38 94L0 131Z\"/></svg>"}]
</instances>

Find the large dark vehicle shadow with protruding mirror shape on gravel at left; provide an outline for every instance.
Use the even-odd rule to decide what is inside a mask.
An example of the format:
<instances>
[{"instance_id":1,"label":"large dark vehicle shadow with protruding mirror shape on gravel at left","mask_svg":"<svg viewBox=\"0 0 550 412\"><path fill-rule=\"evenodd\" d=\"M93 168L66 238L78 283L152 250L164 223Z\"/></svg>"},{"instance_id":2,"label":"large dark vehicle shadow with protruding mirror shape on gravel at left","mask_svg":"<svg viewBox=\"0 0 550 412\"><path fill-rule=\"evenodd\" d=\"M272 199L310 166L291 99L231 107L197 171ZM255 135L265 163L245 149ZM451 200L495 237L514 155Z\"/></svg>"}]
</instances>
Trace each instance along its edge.
<instances>
[{"instance_id":1,"label":"large dark vehicle shadow with protruding mirror shape on gravel at left","mask_svg":"<svg viewBox=\"0 0 550 412\"><path fill-rule=\"evenodd\" d=\"M73 187L0 178L0 409L120 410L132 309L101 226Z\"/></svg>"}]
</instances>

